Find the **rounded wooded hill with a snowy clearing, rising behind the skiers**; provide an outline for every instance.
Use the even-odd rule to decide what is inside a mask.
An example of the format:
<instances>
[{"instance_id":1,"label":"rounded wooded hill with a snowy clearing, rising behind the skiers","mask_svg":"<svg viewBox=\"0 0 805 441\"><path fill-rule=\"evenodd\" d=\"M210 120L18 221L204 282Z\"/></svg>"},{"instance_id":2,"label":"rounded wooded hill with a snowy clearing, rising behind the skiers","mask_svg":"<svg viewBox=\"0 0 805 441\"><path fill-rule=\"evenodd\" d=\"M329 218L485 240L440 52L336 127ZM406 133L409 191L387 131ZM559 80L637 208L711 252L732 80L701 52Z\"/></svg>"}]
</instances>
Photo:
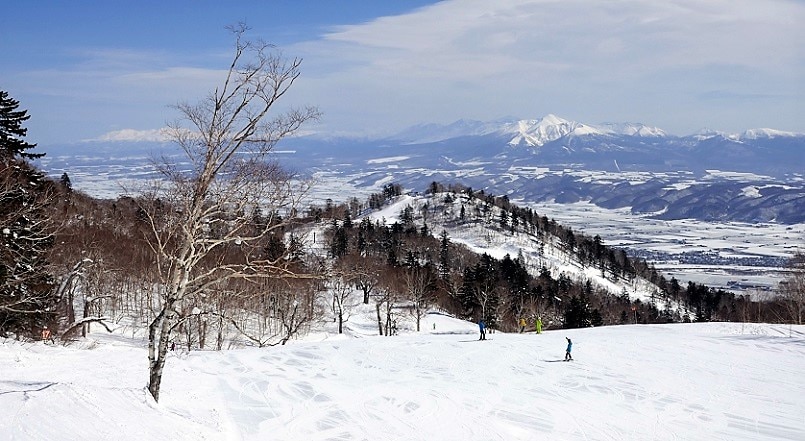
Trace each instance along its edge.
<instances>
[{"instance_id":1,"label":"rounded wooded hill with a snowy clearing, rising behind the skiers","mask_svg":"<svg viewBox=\"0 0 805 441\"><path fill-rule=\"evenodd\" d=\"M380 265L374 272L387 285L397 280L412 305L422 290L412 279L423 279L435 304L505 330L520 317L585 327L779 314L748 296L667 280L601 237L460 185L434 182L422 195L388 185L365 206L353 200L318 214L335 219L329 252L339 264L369 273Z\"/></svg>"}]
</instances>

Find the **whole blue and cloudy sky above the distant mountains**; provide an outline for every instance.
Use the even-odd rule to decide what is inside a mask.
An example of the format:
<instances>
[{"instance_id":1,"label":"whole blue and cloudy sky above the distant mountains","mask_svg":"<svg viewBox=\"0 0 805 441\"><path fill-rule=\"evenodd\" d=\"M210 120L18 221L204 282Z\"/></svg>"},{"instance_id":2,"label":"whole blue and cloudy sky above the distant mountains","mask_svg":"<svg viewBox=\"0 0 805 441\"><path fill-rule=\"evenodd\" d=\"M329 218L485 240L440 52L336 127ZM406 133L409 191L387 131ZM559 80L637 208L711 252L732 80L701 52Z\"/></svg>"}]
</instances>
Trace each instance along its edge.
<instances>
[{"instance_id":1,"label":"whole blue and cloudy sky above the distant mountains","mask_svg":"<svg viewBox=\"0 0 805 441\"><path fill-rule=\"evenodd\" d=\"M238 22L303 59L277 110L317 106L309 130L556 114L805 132L805 2L791 0L9 2L0 89L29 111L29 142L146 137L220 84Z\"/></svg>"}]
</instances>

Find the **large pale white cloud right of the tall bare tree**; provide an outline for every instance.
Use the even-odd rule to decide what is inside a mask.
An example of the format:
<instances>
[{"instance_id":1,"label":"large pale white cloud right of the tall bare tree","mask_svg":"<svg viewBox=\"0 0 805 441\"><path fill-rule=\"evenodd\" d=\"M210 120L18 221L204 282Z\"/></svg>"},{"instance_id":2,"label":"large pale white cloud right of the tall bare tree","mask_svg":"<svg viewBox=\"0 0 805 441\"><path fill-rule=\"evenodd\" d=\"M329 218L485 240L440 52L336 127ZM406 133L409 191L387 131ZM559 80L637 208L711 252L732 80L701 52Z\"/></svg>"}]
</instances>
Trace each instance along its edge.
<instances>
[{"instance_id":1,"label":"large pale white cloud right of the tall bare tree","mask_svg":"<svg viewBox=\"0 0 805 441\"><path fill-rule=\"evenodd\" d=\"M553 112L671 132L802 130L801 23L805 5L788 1L447 0L293 50L306 62L297 92L334 126ZM744 100L736 115L738 103L701 99L712 91L789 98Z\"/></svg>"}]
</instances>

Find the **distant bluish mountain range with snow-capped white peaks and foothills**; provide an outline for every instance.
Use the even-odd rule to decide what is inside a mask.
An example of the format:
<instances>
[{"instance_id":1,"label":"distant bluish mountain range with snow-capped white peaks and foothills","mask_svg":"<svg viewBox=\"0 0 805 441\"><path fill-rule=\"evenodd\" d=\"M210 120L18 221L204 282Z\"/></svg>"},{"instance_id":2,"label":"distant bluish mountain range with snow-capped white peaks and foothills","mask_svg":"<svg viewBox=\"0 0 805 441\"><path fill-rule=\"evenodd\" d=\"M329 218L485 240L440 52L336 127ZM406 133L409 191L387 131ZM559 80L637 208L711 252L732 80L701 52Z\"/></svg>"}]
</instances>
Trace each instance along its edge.
<instances>
[{"instance_id":1,"label":"distant bluish mountain range with snow-capped white peaks and foothills","mask_svg":"<svg viewBox=\"0 0 805 441\"><path fill-rule=\"evenodd\" d=\"M640 123L421 125L381 140L288 139L283 157L358 186L460 182L526 202L590 201L662 219L805 222L805 134L669 135Z\"/></svg>"}]
</instances>

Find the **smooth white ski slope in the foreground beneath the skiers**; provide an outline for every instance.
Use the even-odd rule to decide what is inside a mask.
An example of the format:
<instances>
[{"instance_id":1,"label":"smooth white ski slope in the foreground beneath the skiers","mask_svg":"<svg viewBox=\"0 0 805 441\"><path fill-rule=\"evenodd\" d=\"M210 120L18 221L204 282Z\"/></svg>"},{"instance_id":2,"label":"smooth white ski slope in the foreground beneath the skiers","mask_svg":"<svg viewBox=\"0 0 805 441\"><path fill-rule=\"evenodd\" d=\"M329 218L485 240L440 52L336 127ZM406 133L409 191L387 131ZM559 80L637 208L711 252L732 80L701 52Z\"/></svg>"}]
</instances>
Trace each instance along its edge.
<instances>
[{"instance_id":1,"label":"smooth white ski slope in the foreground beneath the skiers","mask_svg":"<svg viewBox=\"0 0 805 441\"><path fill-rule=\"evenodd\" d=\"M139 339L0 340L0 439L805 439L805 326L423 327L173 352L159 404Z\"/></svg>"}]
</instances>

